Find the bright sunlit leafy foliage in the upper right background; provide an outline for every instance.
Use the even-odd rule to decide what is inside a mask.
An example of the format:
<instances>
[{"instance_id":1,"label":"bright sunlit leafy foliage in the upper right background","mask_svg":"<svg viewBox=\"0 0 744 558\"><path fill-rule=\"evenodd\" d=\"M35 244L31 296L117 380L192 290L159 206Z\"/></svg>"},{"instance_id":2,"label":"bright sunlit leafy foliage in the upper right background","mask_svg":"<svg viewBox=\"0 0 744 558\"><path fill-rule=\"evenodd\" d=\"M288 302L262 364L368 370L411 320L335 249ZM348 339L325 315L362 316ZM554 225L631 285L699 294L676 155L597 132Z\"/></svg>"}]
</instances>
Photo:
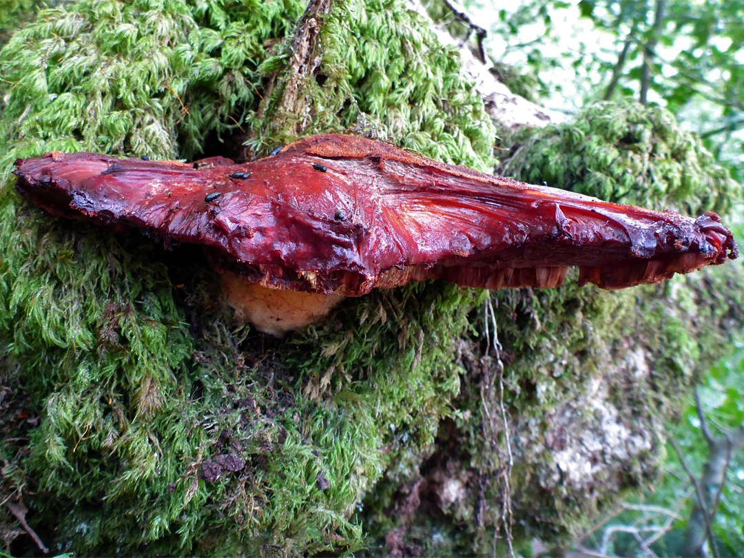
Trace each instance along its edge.
<instances>
[{"instance_id":1,"label":"bright sunlit leafy foliage in the upper right background","mask_svg":"<svg viewBox=\"0 0 744 558\"><path fill-rule=\"evenodd\" d=\"M646 82L647 100L697 132L719 164L741 180L740 3L526 1L501 8L498 18L490 16L487 2L466 4L476 17L482 13L492 21L492 56L533 76L544 102L577 112L593 100L638 100Z\"/></svg>"}]
</instances>

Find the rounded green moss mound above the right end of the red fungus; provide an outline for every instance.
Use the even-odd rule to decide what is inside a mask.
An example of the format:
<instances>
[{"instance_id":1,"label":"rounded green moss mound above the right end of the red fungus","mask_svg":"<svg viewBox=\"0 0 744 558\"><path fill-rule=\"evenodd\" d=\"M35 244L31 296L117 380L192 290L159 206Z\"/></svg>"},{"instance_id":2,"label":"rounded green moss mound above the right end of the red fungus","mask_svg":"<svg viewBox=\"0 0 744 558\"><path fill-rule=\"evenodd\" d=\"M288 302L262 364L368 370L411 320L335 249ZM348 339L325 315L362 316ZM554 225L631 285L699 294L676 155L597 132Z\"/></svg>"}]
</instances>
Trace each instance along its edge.
<instances>
[{"instance_id":1,"label":"rounded green moss mound above the right end of the red fungus","mask_svg":"<svg viewBox=\"0 0 744 558\"><path fill-rule=\"evenodd\" d=\"M725 214L741 188L659 106L594 103L567 124L513 138L504 174L611 202Z\"/></svg>"}]
</instances>

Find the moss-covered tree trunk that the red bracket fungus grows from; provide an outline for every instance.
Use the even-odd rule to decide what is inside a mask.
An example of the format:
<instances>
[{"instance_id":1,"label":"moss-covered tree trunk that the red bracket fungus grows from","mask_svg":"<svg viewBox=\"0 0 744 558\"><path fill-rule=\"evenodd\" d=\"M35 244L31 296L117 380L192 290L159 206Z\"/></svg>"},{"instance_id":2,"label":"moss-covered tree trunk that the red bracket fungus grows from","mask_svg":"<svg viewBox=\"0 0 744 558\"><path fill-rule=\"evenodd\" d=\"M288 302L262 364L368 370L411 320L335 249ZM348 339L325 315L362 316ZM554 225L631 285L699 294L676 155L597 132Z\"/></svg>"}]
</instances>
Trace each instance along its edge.
<instances>
[{"instance_id":1,"label":"moss-covered tree trunk that the red bracket fungus grows from","mask_svg":"<svg viewBox=\"0 0 744 558\"><path fill-rule=\"evenodd\" d=\"M48 150L255 158L315 132L493 170L496 125L402 0L62 3L0 69L4 551L33 552L31 530L82 555L557 541L652 481L741 322L728 266L626 292L415 284L277 340L234 321L198 251L13 189L13 159ZM532 182L691 213L735 193L661 109L522 134L501 165Z\"/></svg>"}]
</instances>

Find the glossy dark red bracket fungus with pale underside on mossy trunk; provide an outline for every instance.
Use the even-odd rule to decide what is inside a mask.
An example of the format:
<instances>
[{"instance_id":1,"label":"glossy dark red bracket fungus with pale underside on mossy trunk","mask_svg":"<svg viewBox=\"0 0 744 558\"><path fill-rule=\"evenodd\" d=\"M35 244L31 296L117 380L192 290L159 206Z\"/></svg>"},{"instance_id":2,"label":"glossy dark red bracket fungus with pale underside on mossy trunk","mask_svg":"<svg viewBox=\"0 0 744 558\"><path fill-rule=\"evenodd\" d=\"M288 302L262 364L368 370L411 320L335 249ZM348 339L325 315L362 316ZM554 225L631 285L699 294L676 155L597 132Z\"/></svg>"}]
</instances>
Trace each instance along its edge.
<instances>
[{"instance_id":1,"label":"glossy dark red bracket fungus with pale underside on mossy trunk","mask_svg":"<svg viewBox=\"0 0 744 558\"><path fill-rule=\"evenodd\" d=\"M92 153L16 161L17 189L63 217L196 243L230 304L281 334L344 296L443 278L461 286L621 289L737 257L716 214L690 219L315 135L246 164Z\"/></svg>"}]
</instances>

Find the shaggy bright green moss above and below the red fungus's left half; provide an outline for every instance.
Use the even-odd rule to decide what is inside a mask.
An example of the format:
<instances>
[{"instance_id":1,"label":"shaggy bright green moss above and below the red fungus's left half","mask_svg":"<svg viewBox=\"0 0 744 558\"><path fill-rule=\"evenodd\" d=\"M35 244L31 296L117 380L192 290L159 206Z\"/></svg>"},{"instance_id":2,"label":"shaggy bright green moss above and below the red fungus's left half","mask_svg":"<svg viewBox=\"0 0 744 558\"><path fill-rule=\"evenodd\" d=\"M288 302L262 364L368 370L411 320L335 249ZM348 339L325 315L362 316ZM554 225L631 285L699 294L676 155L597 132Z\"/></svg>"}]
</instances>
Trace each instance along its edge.
<instances>
[{"instance_id":1,"label":"shaggy bright green moss above and below the red fungus's left half","mask_svg":"<svg viewBox=\"0 0 744 558\"><path fill-rule=\"evenodd\" d=\"M304 4L42 11L0 55L12 84L3 176L45 150L190 158L241 129L257 153L293 139L264 135L259 111ZM307 133L371 127L486 169L495 130L457 69L400 2L336 3L321 36L325 78L304 84ZM38 426L3 431L0 455L22 474L4 469L2 490L23 496L45 542L80 554L358 548L360 498L391 461L416 463L453 412L449 355L476 295L378 292L279 343L232 323L197 252L53 219L3 181L3 366ZM215 478L231 453L246 466Z\"/></svg>"}]
</instances>

